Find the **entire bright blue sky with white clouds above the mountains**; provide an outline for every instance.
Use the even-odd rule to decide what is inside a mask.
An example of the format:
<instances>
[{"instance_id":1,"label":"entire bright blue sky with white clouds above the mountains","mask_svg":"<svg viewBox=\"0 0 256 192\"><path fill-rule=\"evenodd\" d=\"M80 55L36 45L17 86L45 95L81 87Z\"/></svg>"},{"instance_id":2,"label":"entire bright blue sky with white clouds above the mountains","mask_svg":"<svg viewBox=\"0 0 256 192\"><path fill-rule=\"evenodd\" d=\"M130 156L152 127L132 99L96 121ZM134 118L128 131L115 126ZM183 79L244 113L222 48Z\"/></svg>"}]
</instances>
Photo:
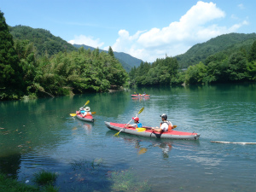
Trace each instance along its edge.
<instances>
[{"instance_id":1,"label":"entire bright blue sky with white clouds above the mountains","mask_svg":"<svg viewBox=\"0 0 256 192\"><path fill-rule=\"evenodd\" d=\"M230 32L256 32L255 0L1 0L9 26L152 62Z\"/></svg>"}]
</instances>

